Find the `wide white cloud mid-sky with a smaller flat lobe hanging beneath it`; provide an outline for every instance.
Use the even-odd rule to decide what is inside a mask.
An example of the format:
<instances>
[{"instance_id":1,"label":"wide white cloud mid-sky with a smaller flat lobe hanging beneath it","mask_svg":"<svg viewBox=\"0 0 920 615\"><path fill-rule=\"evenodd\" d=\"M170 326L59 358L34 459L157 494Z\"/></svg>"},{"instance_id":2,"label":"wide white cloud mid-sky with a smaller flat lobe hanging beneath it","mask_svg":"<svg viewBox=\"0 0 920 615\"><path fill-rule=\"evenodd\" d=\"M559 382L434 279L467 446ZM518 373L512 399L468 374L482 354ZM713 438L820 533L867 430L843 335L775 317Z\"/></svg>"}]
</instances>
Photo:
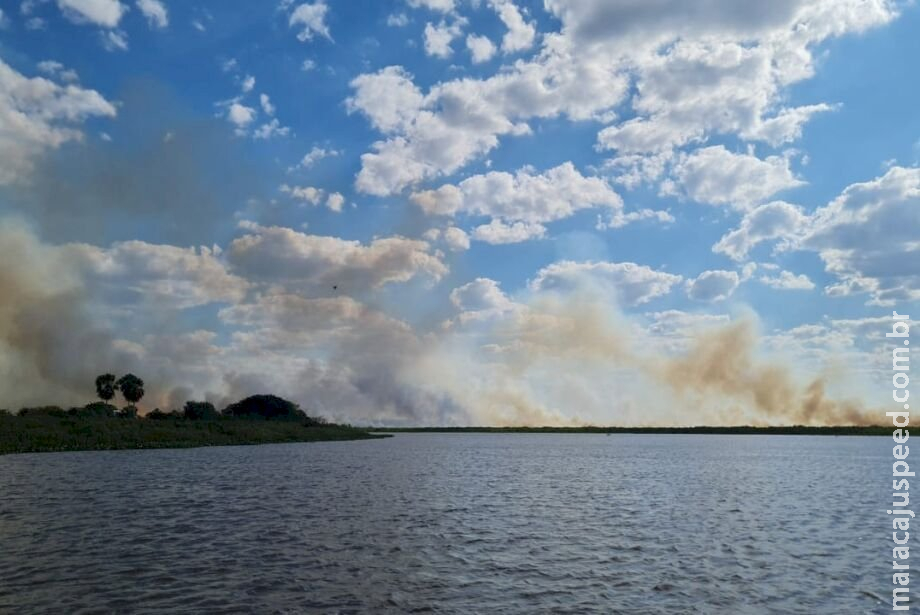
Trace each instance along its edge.
<instances>
[{"instance_id":1,"label":"wide white cloud mid-sky with a smaller flat lobe hanging beneath it","mask_svg":"<svg viewBox=\"0 0 920 615\"><path fill-rule=\"evenodd\" d=\"M606 181L581 175L571 162L540 174L528 168L513 175L491 171L456 186L417 192L411 199L428 214L492 218L473 232L474 238L491 243L540 237L546 230L543 224L582 209L602 208L613 220L623 208L623 200Z\"/></svg>"}]
</instances>

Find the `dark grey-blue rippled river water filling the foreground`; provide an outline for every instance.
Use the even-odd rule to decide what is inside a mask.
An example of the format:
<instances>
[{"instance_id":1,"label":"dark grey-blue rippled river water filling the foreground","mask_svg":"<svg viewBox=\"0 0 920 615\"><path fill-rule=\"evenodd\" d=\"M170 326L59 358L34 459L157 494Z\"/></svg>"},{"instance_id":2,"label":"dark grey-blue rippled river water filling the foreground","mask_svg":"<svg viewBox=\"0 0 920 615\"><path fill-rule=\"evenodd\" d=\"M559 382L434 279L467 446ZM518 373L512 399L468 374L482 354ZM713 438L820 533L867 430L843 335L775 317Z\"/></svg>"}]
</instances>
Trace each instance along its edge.
<instances>
[{"instance_id":1,"label":"dark grey-blue rippled river water filling the foreground","mask_svg":"<svg viewBox=\"0 0 920 615\"><path fill-rule=\"evenodd\" d=\"M5 456L0 611L886 613L890 455L404 434Z\"/></svg>"}]
</instances>

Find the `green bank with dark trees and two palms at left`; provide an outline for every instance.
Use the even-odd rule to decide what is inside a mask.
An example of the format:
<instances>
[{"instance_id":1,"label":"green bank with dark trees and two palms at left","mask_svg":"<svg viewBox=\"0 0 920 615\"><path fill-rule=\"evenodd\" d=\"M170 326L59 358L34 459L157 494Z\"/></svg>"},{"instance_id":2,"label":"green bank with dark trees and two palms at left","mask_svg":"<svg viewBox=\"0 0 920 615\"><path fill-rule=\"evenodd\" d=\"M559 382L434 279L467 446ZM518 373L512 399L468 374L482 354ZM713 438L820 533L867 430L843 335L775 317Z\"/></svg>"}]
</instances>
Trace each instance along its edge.
<instances>
[{"instance_id":1,"label":"green bank with dark trees and two palms at left","mask_svg":"<svg viewBox=\"0 0 920 615\"><path fill-rule=\"evenodd\" d=\"M95 384L102 401L83 407L22 408L15 416L0 410L0 454L386 437L307 416L297 404L275 395L253 395L222 412L208 401L188 401L181 412L156 408L139 418L134 404L144 396L143 380L134 374L118 380L102 374ZM128 402L121 410L108 403L116 391Z\"/></svg>"}]
</instances>

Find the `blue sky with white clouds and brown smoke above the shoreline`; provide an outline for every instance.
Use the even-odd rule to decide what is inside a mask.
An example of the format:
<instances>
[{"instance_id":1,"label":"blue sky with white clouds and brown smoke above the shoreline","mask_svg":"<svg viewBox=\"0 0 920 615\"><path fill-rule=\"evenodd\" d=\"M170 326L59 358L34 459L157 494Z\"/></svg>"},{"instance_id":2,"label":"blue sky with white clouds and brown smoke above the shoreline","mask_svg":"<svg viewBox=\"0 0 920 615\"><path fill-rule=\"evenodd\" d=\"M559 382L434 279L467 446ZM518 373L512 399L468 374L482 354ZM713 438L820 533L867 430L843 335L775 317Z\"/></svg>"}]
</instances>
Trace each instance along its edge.
<instances>
[{"instance_id":1,"label":"blue sky with white clouds and brown smoke above the shoreline","mask_svg":"<svg viewBox=\"0 0 920 615\"><path fill-rule=\"evenodd\" d=\"M890 410L911 2L0 11L0 407L133 371L369 425Z\"/></svg>"}]
</instances>

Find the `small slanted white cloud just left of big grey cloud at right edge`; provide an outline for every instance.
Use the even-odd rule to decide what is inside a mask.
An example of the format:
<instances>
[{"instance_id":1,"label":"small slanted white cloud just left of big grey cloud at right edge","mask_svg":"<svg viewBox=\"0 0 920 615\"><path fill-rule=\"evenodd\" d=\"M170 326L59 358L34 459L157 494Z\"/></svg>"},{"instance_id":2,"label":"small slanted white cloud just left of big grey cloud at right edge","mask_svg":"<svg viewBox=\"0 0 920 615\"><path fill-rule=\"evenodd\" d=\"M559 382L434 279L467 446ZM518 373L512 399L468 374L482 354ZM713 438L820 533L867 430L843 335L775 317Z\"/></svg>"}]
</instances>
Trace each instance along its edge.
<instances>
[{"instance_id":1,"label":"small slanted white cloud just left of big grey cloud at right edge","mask_svg":"<svg viewBox=\"0 0 920 615\"><path fill-rule=\"evenodd\" d=\"M745 213L740 226L719 239L712 251L740 261L763 241L798 235L807 221L800 207L783 201L765 203Z\"/></svg>"}]
</instances>

